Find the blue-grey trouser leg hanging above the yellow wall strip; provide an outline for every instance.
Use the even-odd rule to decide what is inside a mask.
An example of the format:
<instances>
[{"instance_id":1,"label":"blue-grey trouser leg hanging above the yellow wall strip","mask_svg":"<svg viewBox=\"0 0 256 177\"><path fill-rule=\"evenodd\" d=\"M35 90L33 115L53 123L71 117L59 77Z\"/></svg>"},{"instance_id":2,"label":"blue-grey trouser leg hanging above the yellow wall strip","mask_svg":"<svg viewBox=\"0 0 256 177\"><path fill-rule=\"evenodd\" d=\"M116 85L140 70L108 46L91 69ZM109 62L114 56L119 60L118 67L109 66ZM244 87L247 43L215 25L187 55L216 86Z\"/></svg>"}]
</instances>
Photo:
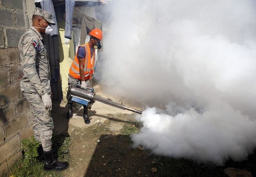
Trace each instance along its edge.
<instances>
[{"instance_id":1,"label":"blue-grey trouser leg hanging above the yellow wall strip","mask_svg":"<svg viewBox=\"0 0 256 177\"><path fill-rule=\"evenodd\" d=\"M75 7L75 0L65 0L66 6L66 23L65 23L65 37L72 39L71 37L71 25L73 19L73 9Z\"/></svg>"}]
</instances>

